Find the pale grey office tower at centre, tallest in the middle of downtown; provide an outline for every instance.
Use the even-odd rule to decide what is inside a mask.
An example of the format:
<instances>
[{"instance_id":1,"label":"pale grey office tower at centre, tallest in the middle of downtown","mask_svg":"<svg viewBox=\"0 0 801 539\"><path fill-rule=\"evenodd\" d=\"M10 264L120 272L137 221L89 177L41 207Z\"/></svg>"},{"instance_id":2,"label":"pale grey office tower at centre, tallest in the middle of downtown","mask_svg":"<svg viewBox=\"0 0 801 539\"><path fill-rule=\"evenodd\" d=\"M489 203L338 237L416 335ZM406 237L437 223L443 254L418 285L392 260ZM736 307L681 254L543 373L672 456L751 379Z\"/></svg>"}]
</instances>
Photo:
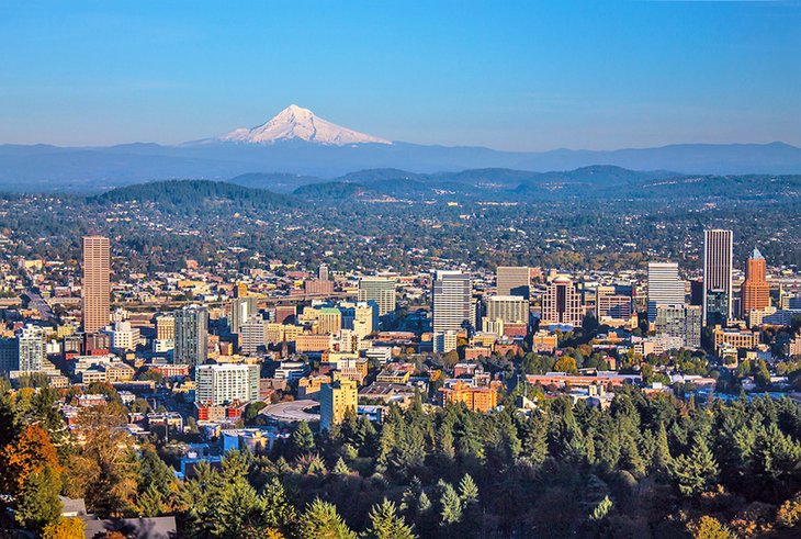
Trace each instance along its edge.
<instances>
[{"instance_id":1,"label":"pale grey office tower at centre, tallest in the middle of downtown","mask_svg":"<svg viewBox=\"0 0 801 539\"><path fill-rule=\"evenodd\" d=\"M473 325L472 289L470 276L461 271L437 270L431 290L435 333L459 332Z\"/></svg>"}]
</instances>

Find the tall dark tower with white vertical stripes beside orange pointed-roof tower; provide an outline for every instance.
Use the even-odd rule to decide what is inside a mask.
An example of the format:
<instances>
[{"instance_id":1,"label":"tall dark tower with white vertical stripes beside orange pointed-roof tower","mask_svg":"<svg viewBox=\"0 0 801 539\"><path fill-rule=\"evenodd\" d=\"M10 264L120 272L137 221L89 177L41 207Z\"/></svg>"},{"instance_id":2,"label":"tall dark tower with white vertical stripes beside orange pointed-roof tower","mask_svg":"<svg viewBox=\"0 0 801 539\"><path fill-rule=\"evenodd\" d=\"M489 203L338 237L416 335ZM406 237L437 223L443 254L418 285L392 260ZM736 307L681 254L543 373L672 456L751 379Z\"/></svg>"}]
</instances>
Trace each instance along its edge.
<instances>
[{"instance_id":1,"label":"tall dark tower with white vertical stripes beside orange pointed-roof tower","mask_svg":"<svg viewBox=\"0 0 801 539\"><path fill-rule=\"evenodd\" d=\"M703 324L725 326L732 318L732 231L703 232Z\"/></svg>"}]
</instances>

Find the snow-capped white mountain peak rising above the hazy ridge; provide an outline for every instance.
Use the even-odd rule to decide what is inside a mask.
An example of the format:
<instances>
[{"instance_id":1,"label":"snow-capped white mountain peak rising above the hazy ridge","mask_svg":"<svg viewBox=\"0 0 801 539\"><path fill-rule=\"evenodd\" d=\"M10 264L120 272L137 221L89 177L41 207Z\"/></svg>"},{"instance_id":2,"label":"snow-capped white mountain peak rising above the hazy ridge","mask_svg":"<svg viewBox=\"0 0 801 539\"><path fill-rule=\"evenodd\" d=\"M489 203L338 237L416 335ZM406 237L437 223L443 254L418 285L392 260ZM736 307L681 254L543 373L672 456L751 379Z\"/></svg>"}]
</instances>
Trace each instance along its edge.
<instances>
[{"instance_id":1,"label":"snow-capped white mountain peak rising above the hazy ridge","mask_svg":"<svg viewBox=\"0 0 801 539\"><path fill-rule=\"evenodd\" d=\"M316 116L308 109L295 104L279 112L269 122L248 130L240 127L217 141L244 144L273 144L279 141L300 139L326 146L351 144L392 144L391 141L359 133Z\"/></svg>"}]
</instances>

